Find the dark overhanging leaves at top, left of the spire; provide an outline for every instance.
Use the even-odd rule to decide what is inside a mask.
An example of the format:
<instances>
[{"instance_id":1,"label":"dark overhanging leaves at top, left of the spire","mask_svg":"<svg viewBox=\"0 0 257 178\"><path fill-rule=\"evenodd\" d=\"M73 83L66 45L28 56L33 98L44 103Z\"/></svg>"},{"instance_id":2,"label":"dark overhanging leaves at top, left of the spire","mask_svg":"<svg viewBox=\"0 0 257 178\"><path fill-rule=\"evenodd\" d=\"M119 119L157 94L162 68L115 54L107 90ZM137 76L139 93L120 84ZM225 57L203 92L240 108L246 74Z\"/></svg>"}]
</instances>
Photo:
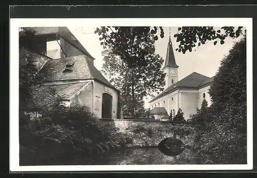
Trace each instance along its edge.
<instances>
[{"instance_id":1,"label":"dark overhanging leaves at top, left of the spire","mask_svg":"<svg viewBox=\"0 0 257 178\"><path fill-rule=\"evenodd\" d=\"M100 36L100 44L111 46L113 52L121 56L121 60L130 68L149 64L145 60L149 49L141 48L141 43L152 43L152 40L158 39L158 33L161 38L164 37L162 27L101 27L97 28L95 33ZM135 42L133 46L131 40ZM133 57L132 50L137 51L137 57Z\"/></svg>"}]
</instances>

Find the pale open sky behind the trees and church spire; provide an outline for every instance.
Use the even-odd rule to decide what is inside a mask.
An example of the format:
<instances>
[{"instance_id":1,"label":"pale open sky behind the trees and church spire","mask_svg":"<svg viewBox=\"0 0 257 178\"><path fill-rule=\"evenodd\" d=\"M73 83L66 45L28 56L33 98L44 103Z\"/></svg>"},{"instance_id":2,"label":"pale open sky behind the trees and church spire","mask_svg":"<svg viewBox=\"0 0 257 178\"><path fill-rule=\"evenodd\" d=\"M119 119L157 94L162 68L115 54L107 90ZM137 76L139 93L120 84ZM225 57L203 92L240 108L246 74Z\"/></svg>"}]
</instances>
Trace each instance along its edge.
<instances>
[{"instance_id":1,"label":"pale open sky behind the trees and church spire","mask_svg":"<svg viewBox=\"0 0 257 178\"><path fill-rule=\"evenodd\" d=\"M98 34L94 33L95 28L96 27L68 27L85 49L96 59L94 65L100 70L102 67L103 56L101 52L103 48L100 45ZM179 66L178 80L181 80L192 72L197 72L208 77L214 76L220 66L221 60L228 54L233 43L239 40L239 38L227 38L225 39L225 44L221 45L217 43L215 46L213 45L213 41L210 41L205 45L201 45L199 48L193 49L192 52L187 51L186 54L183 54L182 52L175 51L179 45L179 43L176 42L176 38L173 37L173 35L177 33L177 29L178 27L163 27L164 37L159 37L155 42L155 52L165 60L170 32L175 60ZM145 108L149 108L148 102L150 100L152 100L152 98L149 96L145 98Z\"/></svg>"}]
</instances>

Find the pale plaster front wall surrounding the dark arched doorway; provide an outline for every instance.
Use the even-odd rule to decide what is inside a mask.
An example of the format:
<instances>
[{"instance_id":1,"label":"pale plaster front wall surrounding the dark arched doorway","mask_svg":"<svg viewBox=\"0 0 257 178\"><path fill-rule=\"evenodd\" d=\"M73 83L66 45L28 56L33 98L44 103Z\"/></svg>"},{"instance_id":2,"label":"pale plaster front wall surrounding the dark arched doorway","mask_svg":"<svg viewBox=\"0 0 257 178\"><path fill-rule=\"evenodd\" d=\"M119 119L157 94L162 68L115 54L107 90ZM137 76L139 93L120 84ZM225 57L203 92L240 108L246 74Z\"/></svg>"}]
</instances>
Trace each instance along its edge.
<instances>
[{"instance_id":1,"label":"pale plaster front wall surrounding the dark arched doorway","mask_svg":"<svg viewBox=\"0 0 257 178\"><path fill-rule=\"evenodd\" d=\"M111 89L111 88L109 88ZM113 104L112 104L112 118L117 118L118 112L118 92L112 89L112 92L107 92L104 90L104 85L101 83L94 81L94 96L93 96L93 111L97 114L99 118L102 117L102 97L103 93L108 93L113 96Z\"/></svg>"}]
</instances>

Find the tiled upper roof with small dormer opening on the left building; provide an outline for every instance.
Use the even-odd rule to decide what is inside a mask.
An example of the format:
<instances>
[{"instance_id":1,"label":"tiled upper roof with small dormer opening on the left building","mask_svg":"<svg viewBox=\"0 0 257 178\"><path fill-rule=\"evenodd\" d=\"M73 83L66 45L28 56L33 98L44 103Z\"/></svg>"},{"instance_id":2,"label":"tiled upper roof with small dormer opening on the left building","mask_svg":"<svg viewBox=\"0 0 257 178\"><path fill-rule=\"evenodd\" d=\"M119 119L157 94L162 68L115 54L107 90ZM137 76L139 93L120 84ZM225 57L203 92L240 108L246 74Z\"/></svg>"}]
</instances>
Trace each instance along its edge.
<instances>
[{"instance_id":1,"label":"tiled upper roof with small dormer opening on the left building","mask_svg":"<svg viewBox=\"0 0 257 178\"><path fill-rule=\"evenodd\" d=\"M74 65L68 67L71 71L64 72L67 64ZM43 82L96 79L113 87L84 55L49 60L40 72L44 75Z\"/></svg>"}]
</instances>

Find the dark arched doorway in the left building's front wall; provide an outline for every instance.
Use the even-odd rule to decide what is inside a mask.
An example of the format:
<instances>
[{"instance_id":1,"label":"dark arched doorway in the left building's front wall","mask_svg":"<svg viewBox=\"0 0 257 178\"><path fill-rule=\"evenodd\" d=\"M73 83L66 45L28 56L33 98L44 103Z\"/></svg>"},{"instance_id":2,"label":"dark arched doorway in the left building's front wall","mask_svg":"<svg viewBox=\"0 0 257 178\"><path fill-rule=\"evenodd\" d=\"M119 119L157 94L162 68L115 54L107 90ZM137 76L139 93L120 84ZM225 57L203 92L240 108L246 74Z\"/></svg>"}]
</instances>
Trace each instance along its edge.
<instances>
[{"instance_id":1,"label":"dark arched doorway in the left building's front wall","mask_svg":"<svg viewBox=\"0 0 257 178\"><path fill-rule=\"evenodd\" d=\"M103 93L102 97L102 118L112 118L113 96Z\"/></svg>"}]
</instances>

